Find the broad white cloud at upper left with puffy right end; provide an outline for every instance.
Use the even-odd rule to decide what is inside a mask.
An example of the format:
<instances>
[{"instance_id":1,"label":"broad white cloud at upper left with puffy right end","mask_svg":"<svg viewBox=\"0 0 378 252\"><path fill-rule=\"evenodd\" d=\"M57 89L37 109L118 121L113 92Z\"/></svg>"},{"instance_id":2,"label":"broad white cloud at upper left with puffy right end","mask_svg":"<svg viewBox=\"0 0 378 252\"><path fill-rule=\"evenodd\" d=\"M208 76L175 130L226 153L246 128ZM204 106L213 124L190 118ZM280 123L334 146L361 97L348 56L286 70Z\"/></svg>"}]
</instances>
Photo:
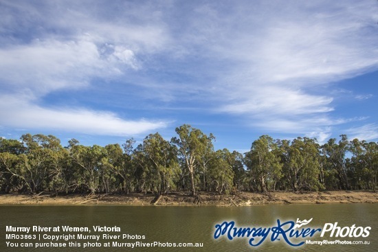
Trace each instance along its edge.
<instances>
[{"instance_id":1,"label":"broad white cloud at upper left with puffy right end","mask_svg":"<svg viewBox=\"0 0 378 252\"><path fill-rule=\"evenodd\" d=\"M76 41L36 40L0 49L0 80L10 89L26 88L43 95L57 89L77 89L91 78L120 76L137 69L133 51L121 46L99 47L91 36Z\"/></svg>"}]
</instances>

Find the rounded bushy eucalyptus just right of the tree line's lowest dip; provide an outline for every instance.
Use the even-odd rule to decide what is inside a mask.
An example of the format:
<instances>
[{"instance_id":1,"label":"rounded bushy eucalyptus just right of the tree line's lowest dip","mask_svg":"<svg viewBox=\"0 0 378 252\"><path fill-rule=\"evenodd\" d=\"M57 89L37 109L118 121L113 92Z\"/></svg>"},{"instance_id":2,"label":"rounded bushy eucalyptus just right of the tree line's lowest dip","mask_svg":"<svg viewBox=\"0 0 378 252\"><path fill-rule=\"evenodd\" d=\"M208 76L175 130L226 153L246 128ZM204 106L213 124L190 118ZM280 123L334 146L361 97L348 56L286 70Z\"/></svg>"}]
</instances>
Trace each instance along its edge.
<instances>
[{"instance_id":1,"label":"rounded bushy eucalyptus just right of the tree line's lowest dip","mask_svg":"<svg viewBox=\"0 0 378 252\"><path fill-rule=\"evenodd\" d=\"M267 183L275 184L281 176L282 164L277 149L274 140L268 135L263 135L255 140L251 150L245 153L249 179L260 187L260 192L267 192Z\"/></svg>"}]
</instances>

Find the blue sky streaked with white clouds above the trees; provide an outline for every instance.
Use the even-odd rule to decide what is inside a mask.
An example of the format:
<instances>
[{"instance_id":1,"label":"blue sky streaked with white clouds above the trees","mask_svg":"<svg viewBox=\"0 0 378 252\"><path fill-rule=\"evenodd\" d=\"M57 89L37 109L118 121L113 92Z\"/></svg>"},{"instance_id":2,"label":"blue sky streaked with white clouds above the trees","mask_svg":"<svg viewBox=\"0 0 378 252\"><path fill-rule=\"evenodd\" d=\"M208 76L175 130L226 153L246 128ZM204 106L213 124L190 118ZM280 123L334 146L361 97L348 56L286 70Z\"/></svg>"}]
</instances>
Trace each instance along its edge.
<instances>
[{"instance_id":1,"label":"blue sky streaked with white clouds above the trees","mask_svg":"<svg viewBox=\"0 0 378 252\"><path fill-rule=\"evenodd\" d=\"M0 1L0 137L377 141L378 2Z\"/></svg>"}]
</instances>

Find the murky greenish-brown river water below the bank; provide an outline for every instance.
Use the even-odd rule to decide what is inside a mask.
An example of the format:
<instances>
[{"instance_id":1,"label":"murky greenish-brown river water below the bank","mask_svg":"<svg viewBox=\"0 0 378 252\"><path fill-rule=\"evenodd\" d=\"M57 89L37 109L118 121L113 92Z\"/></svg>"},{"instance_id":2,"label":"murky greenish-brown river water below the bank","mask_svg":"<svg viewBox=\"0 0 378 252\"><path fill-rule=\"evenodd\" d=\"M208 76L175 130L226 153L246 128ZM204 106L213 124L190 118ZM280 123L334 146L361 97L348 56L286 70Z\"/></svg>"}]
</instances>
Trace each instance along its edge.
<instances>
[{"instance_id":1,"label":"murky greenish-brown river water below the bank","mask_svg":"<svg viewBox=\"0 0 378 252\"><path fill-rule=\"evenodd\" d=\"M229 240L224 236L214 239L215 226L224 221L234 221L237 227L277 227L277 220L282 222L311 220L302 228L324 229L326 223L343 229L344 233L355 225L357 235L366 227L371 227L368 237L364 238L335 238L330 237L331 231L320 237L320 231L312 237L307 236L289 241L298 244L305 240L340 242L370 242L370 244L303 244L300 247L291 247L283 236L271 241L271 234L258 246L248 244L252 238L234 238ZM0 206L0 251L378 251L378 205L377 204L324 204L324 205L256 205L249 207L162 207L162 206ZM6 227L51 227L50 230L30 231L35 239L22 240L6 239L12 233L23 234L6 230ZM63 231L61 226L88 227L87 231ZM93 226L119 227L120 231L94 231ZM54 227L60 227L54 230ZM287 227L287 226L285 226ZM330 226L328 226L330 227ZM282 227L283 228L283 227ZM302 229L300 228L300 229ZM361 232L360 232L361 231ZM77 239L78 234L100 236L100 240ZM65 248L41 247L35 248L36 243L45 246L51 245L49 236L75 235L75 239L58 240L65 243ZM115 239L104 238L103 234L115 236ZM44 236L45 235L45 236ZM120 236L117 239L117 236ZM122 239L125 235L126 238ZM127 236L129 235L129 236ZM227 233L226 233L227 235ZM335 234L333 235L335 236ZM41 237L41 240L39 240ZM43 239L45 237L45 239ZM258 239L256 237L256 239ZM255 240L256 242L257 240ZM7 243L6 242L10 242ZM71 242L71 244L69 244ZM87 244L89 242L89 244ZM83 248L84 244L100 247ZM113 242L123 244L142 242L153 244L155 247L114 247ZM160 243L159 243L160 242ZM173 247L192 243L203 247ZM12 243L12 244L11 244ZM155 244L156 244L155 243ZM197 244L196 244L197 243ZM253 243L253 242L252 242ZM26 245L33 247L21 247ZM74 247L74 245L80 247ZM104 247L109 244L110 247ZM11 246L19 247L11 247ZM71 245L71 247L68 247ZM159 247L160 245L160 247ZM131 246L131 245L130 245ZM172 247L169 247L172 246Z\"/></svg>"}]
</instances>

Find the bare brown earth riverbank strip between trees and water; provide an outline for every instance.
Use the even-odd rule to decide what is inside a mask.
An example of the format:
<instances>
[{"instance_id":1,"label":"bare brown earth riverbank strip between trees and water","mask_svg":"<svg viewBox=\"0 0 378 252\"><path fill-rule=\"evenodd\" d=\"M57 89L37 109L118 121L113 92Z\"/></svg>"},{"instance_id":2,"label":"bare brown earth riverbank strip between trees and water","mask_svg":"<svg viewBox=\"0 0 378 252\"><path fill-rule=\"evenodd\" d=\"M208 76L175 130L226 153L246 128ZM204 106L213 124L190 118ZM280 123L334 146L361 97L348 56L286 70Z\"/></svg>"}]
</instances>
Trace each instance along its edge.
<instances>
[{"instance_id":1,"label":"bare brown earth riverbank strip between trees and water","mask_svg":"<svg viewBox=\"0 0 378 252\"><path fill-rule=\"evenodd\" d=\"M173 192L155 197L153 194L98 194L83 196L51 196L48 194L1 194L0 205L215 205L243 206L264 204L324 204L324 203L378 203L378 193L369 191L331 192L269 192L266 194L239 192L220 195L200 192L193 197L186 192Z\"/></svg>"}]
</instances>

